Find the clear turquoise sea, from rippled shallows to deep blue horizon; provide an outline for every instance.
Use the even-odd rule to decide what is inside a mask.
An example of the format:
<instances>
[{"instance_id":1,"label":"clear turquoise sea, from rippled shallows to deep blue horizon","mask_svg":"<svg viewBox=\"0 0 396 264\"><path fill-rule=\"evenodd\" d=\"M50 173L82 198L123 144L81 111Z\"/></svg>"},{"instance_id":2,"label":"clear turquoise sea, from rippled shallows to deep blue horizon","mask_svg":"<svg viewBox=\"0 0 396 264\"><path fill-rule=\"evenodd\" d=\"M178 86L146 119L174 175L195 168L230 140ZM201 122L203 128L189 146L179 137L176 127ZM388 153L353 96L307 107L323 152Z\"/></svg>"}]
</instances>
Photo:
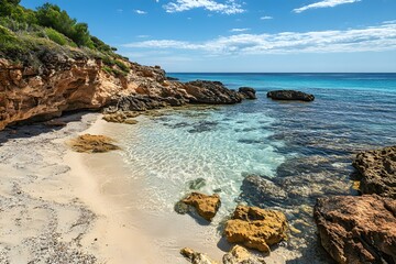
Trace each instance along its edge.
<instances>
[{"instance_id":1,"label":"clear turquoise sea, from rippled shallows to deep blue horizon","mask_svg":"<svg viewBox=\"0 0 396 264\"><path fill-rule=\"evenodd\" d=\"M219 80L231 89L253 87L257 100L164 111L119 136L133 177L144 180L151 194L141 206L147 202L153 213L173 212L174 204L191 191L190 183L201 178L205 185L198 190L218 193L222 200L212 224L239 202L276 208L297 229L285 246L308 255L317 251L311 245L317 243L311 218L316 199L356 195L350 177L354 154L396 144L396 74L168 76ZM273 101L266 92L274 89L306 91L316 100ZM245 183L249 175L273 180L289 197L267 189L263 198Z\"/></svg>"}]
</instances>

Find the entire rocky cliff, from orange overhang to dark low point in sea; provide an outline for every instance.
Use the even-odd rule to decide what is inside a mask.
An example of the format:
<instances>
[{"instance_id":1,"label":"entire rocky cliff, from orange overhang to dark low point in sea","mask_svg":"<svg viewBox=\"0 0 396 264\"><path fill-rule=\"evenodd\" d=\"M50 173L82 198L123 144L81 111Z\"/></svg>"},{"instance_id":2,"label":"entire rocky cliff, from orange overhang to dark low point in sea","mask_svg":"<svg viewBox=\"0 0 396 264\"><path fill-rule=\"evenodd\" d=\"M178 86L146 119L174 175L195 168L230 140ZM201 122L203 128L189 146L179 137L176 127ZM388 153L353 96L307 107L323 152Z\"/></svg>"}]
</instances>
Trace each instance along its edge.
<instances>
[{"instance_id":1,"label":"entire rocky cliff, from orange overhang to dark low point in sea","mask_svg":"<svg viewBox=\"0 0 396 264\"><path fill-rule=\"evenodd\" d=\"M242 99L241 94L218 82L210 87L169 81L158 66L122 63L131 69L129 74L109 74L100 59L52 52L43 54L38 65L0 58L0 130L22 120L50 119L64 111L109 105L116 110L146 110Z\"/></svg>"}]
</instances>

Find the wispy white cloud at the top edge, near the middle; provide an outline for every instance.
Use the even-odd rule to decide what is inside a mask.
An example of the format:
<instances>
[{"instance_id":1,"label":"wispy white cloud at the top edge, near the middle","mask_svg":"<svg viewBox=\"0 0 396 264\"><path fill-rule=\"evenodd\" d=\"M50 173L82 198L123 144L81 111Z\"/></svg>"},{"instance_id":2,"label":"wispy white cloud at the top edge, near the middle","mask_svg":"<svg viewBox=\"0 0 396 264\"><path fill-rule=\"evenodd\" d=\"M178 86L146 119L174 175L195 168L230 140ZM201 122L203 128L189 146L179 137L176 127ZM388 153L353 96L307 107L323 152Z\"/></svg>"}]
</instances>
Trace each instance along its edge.
<instances>
[{"instance_id":1,"label":"wispy white cloud at the top edge, near the middle","mask_svg":"<svg viewBox=\"0 0 396 264\"><path fill-rule=\"evenodd\" d=\"M224 14L243 13L245 11L241 4L237 3L237 0L228 0L224 3L215 0L174 0L173 2L164 4L164 9L168 13L183 12L197 8Z\"/></svg>"}]
</instances>

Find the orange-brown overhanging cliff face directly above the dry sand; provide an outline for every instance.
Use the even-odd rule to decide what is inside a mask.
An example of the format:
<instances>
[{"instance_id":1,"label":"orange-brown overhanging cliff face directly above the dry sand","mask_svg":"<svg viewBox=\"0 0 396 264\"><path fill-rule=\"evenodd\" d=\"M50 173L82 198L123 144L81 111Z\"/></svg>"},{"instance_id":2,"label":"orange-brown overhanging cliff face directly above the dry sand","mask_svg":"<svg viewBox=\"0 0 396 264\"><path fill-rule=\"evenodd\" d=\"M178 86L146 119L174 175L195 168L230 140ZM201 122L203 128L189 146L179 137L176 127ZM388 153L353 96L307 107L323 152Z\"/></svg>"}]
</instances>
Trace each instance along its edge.
<instances>
[{"instance_id":1,"label":"orange-brown overhanging cliff face directly above the dry sand","mask_svg":"<svg viewBox=\"0 0 396 264\"><path fill-rule=\"evenodd\" d=\"M0 59L0 129L32 117L100 108L116 90L128 88L123 79L106 75L99 61L61 55L46 59L40 67Z\"/></svg>"}]
</instances>

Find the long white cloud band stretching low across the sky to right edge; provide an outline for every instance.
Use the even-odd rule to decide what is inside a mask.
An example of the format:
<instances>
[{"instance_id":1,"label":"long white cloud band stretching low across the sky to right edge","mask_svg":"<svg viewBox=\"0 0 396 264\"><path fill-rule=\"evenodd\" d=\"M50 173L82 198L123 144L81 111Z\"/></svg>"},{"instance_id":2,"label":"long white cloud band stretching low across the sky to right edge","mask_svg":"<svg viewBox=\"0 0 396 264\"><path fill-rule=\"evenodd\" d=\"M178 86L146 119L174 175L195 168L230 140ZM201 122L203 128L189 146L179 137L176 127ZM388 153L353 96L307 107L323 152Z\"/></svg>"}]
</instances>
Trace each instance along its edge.
<instances>
[{"instance_id":1,"label":"long white cloud band stretching low across the sky to right edge","mask_svg":"<svg viewBox=\"0 0 396 264\"><path fill-rule=\"evenodd\" d=\"M396 23L358 30L237 34L202 43L153 40L123 45L140 48L200 51L209 55L396 51Z\"/></svg>"}]
</instances>

